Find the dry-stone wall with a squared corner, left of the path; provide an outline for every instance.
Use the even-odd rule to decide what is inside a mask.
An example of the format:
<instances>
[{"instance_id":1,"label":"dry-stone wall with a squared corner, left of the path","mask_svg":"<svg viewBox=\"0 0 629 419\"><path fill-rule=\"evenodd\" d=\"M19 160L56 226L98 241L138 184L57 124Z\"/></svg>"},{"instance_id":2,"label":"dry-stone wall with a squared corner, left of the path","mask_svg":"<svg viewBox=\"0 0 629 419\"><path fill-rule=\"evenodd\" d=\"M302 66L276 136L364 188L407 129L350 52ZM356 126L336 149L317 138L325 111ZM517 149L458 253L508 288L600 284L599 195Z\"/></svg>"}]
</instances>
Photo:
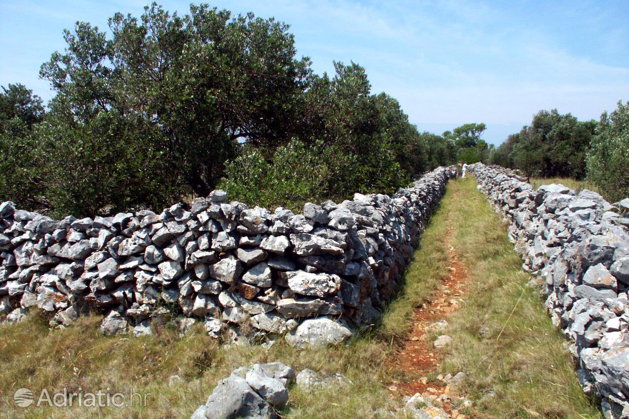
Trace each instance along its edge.
<instances>
[{"instance_id":1,"label":"dry-stone wall with a squared corner, left of the path","mask_svg":"<svg viewBox=\"0 0 629 419\"><path fill-rule=\"evenodd\" d=\"M249 209L221 190L161 214L94 219L4 202L0 313L16 321L37 306L64 327L96 311L106 334L198 320L232 340L249 330L297 346L340 341L379 315L454 176L437 168L393 197L357 193L303 214Z\"/></svg>"}]
</instances>

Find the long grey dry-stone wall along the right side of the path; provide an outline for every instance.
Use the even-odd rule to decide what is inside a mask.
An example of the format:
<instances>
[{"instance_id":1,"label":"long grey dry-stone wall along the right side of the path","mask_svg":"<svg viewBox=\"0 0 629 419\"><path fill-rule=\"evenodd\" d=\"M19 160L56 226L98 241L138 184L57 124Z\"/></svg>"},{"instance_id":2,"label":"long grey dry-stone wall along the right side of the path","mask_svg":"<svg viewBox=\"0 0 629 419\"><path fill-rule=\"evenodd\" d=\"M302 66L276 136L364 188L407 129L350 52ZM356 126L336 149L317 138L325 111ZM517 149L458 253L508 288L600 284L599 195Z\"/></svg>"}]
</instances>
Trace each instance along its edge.
<instances>
[{"instance_id":1,"label":"long grey dry-stone wall along the right side of the path","mask_svg":"<svg viewBox=\"0 0 629 419\"><path fill-rule=\"evenodd\" d=\"M610 205L590 190L534 190L499 166L471 171L508 222L523 268L540 278L584 391L601 398L606 417L629 417L629 199Z\"/></svg>"}]
</instances>

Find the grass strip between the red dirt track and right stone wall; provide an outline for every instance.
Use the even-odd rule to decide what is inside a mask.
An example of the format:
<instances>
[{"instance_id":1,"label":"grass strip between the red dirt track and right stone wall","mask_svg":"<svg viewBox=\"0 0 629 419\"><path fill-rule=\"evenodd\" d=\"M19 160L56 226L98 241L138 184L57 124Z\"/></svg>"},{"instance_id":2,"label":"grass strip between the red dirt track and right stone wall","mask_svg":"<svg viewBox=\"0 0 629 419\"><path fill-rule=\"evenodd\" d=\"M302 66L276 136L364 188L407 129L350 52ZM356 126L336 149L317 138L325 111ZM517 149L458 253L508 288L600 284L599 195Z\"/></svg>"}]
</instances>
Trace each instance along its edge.
<instances>
[{"instance_id":1,"label":"grass strip between the red dirt track and right stone wall","mask_svg":"<svg viewBox=\"0 0 629 419\"><path fill-rule=\"evenodd\" d=\"M448 318L443 370L465 371L477 418L601 418L582 392L565 339L554 329L499 217L473 179L457 181L455 250L469 289Z\"/></svg>"}]
</instances>

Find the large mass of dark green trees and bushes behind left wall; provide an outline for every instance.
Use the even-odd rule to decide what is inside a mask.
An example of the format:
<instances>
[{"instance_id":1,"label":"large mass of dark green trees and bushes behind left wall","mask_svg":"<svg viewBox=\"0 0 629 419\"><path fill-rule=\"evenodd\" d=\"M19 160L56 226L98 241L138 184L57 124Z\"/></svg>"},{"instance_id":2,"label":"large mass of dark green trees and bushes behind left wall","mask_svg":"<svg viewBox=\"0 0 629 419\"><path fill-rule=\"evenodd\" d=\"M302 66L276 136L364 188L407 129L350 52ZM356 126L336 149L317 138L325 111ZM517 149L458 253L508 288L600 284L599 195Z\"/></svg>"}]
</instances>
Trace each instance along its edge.
<instances>
[{"instance_id":1,"label":"large mass of dark green trees and bushes behind left wall","mask_svg":"<svg viewBox=\"0 0 629 419\"><path fill-rule=\"evenodd\" d=\"M55 91L47 108L3 87L0 200L80 216L223 187L250 204L299 204L392 192L457 159L465 130L418 132L356 63L313 73L274 19L153 3L109 30L64 31L65 51L40 71Z\"/></svg>"}]
</instances>

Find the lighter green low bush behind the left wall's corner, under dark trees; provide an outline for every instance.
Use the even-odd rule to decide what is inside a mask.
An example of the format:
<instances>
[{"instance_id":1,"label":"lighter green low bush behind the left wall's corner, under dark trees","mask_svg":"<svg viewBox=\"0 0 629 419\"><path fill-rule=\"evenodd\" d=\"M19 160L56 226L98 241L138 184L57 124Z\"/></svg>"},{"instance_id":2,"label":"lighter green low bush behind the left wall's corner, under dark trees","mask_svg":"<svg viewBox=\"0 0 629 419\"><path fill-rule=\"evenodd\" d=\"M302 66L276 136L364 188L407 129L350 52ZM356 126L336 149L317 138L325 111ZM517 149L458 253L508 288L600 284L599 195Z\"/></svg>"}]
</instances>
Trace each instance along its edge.
<instances>
[{"instance_id":1,"label":"lighter green low bush behind the left wall's corner, under dark trees","mask_svg":"<svg viewBox=\"0 0 629 419\"><path fill-rule=\"evenodd\" d=\"M308 145L293 140L274 150L245 146L228 162L220 186L247 204L299 209L304 202L343 199L353 192L391 193L408 183L393 177L396 170L360 165L357 156L321 141Z\"/></svg>"}]
</instances>

